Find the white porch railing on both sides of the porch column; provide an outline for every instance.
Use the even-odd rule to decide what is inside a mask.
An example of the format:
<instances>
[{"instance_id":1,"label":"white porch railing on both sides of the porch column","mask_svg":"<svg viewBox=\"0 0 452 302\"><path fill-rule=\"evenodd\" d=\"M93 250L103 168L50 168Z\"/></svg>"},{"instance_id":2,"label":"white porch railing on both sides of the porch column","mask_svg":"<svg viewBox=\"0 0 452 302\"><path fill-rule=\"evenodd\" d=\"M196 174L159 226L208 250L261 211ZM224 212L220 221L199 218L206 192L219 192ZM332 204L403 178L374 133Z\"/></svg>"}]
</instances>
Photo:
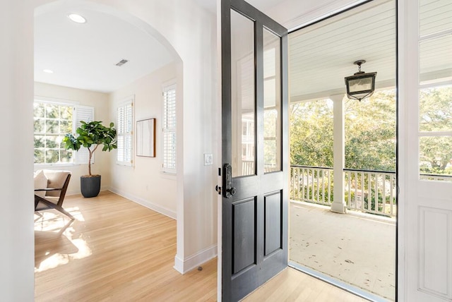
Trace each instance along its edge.
<instances>
[{"instance_id":1,"label":"white porch railing on both sides of the porch column","mask_svg":"<svg viewBox=\"0 0 452 302\"><path fill-rule=\"evenodd\" d=\"M333 169L290 166L290 198L309 203L333 203ZM343 199L350 210L396 216L396 173L344 169Z\"/></svg>"}]
</instances>

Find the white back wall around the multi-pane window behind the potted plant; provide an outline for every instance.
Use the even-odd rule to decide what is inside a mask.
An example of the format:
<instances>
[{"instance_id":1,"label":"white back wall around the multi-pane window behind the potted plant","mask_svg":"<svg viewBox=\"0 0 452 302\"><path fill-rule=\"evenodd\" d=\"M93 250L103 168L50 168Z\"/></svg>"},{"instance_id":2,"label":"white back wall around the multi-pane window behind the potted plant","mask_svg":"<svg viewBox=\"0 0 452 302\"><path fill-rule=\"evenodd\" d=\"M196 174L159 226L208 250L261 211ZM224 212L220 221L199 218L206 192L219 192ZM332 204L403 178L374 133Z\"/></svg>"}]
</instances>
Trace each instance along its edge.
<instances>
[{"instance_id":1,"label":"white back wall around the multi-pane window behind the potted plant","mask_svg":"<svg viewBox=\"0 0 452 302\"><path fill-rule=\"evenodd\" d=\"M108 125L109 117L109 95L102 92L74 89L58 85L49 85L35 82L35 98L54 102L76 102L79 105L94 107L95 121L103 121ZM116 124L116 123L115 123ZM101 190L110 187L109 162L112 157L111 152L95 152L95 162L91 164L93 174L102 175ZM88 164L71 164L67 166L35 166L37 169L64 169L72 172L71 181L67 194L80 194L80 176L88 174Z\"/></svg>"}]
</instances>

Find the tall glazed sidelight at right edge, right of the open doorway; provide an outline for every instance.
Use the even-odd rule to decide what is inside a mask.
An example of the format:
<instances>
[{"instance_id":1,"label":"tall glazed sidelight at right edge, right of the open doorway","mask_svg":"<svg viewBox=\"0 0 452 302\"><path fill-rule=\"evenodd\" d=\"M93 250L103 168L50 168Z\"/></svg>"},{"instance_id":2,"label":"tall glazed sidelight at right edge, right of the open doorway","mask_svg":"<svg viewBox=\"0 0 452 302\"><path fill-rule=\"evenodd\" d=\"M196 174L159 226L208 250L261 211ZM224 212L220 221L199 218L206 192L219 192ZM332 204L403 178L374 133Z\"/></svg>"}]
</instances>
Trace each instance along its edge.
<instances>
[{"instance_id":1,"label":"tall glazed sidelight at right edge, right of the open doorway","mask_svg":"<svg viewBox=\"0 0 452 302\"><path fill-rule=\"evenodd\" d=\"M452 181L452 2L420 0L420 179Z\"/></svg>"}]
</instances>

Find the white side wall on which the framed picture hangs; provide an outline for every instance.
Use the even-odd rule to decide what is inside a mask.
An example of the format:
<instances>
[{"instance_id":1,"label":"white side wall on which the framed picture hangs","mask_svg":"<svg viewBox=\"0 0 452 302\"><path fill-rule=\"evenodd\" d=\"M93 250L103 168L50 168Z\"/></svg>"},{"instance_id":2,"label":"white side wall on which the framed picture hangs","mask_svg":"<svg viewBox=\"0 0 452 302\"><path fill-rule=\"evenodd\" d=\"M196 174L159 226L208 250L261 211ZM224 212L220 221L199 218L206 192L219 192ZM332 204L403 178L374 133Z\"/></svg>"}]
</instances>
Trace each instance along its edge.
<instances>
[{"instance_id":1,"label":"white side wall on which the framed picture hangs","mask_svg":"<svg viewBox=\"0 0 452 302\"><path fill-rule=\"evenodd\" d=\"M133 150L133 167L121 166L112 159L111 191L137 203L176 218L177 181L175 175L162 173L162 87L171 81L176 83L177 66L169 64L113 92L110 98L110 116L116 123L117 106L126 97L134 96L135 121L155 118L155 157L137 157ZM133 126L136 133L136 122ZM134 136L134 139L136 136ZM136 140L133 142L136 147ZM116 155L116 150L114 150Z\"/></svg>"}]
</instances>

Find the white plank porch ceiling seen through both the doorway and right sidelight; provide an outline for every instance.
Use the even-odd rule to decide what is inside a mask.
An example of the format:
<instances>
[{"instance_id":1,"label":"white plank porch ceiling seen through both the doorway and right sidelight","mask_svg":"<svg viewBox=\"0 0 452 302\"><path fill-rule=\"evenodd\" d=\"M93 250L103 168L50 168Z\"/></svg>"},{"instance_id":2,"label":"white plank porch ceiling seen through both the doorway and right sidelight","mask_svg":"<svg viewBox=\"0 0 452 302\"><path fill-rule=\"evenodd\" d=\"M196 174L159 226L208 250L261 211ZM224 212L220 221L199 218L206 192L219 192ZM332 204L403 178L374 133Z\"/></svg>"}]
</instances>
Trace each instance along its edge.
<instances>
[{"instance_id":1,"label":"white plank porch ceiling seen through both the doorway and right sidelight","mask_svg":"<svg viewBox=\"0 0 452 302\"><path fill-rule=\"evenodd\" d=\"M422 0L421 35L444 30L452 18L450 0ZM451 79L452 35L421 43L421 80ZM396 83L396 1L374 0L289 35L291 102L345 94L345 76L366 60L362 71L377 72L376 87ZM441 54L442 52L442 54ZM439 56L441 54L441 56ZM444 61L444 58L446 61Z\"/></svg>"}]
</instances>

